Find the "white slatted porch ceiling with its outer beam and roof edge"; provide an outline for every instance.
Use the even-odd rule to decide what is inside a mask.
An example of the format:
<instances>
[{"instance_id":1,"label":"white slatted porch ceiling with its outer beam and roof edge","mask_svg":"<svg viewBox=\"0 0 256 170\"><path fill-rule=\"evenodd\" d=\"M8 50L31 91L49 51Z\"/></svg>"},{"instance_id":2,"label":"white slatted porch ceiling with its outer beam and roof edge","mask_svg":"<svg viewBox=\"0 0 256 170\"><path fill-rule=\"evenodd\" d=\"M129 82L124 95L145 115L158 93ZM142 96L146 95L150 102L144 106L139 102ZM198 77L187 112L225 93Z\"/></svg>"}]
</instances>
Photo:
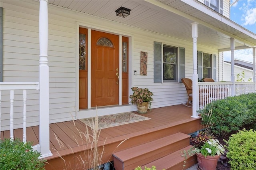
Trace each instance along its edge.
<instances>
[{"instance_id":1,"label":"white slatted porch ceiling with its outer beam and roof edge","mask_svg":"<svg viewBox=\"0 0 256 170\"><path fill-rule=\"evenodd\" d=\"M119 22L143 30L192 42L191 23L198 22L199 44L217 49L230 49L230 37L235 46L256 46L256 35L217 14L207 6L182 0L48 0L49 4L76 10L92 16ZM130 16L116 16L120 6L131 9ZM198 7L198 8L196 8ZM224 21L225 24L223 23Z\"/></svg>"}]
</instances>

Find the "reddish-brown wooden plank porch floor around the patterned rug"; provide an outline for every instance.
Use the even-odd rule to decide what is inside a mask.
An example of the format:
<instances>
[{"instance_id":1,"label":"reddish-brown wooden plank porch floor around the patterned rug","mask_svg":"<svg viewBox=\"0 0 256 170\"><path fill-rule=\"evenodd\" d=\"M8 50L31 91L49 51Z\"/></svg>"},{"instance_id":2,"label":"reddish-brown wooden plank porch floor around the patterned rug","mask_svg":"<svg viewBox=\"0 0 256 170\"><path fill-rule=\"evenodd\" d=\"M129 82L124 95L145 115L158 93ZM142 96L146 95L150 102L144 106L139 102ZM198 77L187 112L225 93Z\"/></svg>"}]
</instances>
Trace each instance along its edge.
<instances>
[{"instance_id":1,"label":"reddish-brown wooden plank porch floor around the patterned rug","mask_svg":"<svg viewBox=\"0 0 256 170\"><path fill-rule=\"evenodd\" d=\"M151 118L150 120L102 129L98 138L98 144L111 144L130 138L131 136L150 132L151 130L162 129L195 120L195 118L191 118L191 115L192 108L184 105L151 109L148 113L143 114L143 116ZM191 131L190 128L193 127L184 127L178 131L188 133ZM79 120L50 124L50 150L53 156L46 159L51 160L84 150L88 142L84 136L85 132L86 126ZM91 134L92 132L89 130L89 133ZM10 131L1 132L1 139L9 137ZM22 138L22 129L14 130L14 138ZM38 138L38 126L27 128L28 141L32 141L33 145L38 144Z\"/></svg>"}]
</instances>

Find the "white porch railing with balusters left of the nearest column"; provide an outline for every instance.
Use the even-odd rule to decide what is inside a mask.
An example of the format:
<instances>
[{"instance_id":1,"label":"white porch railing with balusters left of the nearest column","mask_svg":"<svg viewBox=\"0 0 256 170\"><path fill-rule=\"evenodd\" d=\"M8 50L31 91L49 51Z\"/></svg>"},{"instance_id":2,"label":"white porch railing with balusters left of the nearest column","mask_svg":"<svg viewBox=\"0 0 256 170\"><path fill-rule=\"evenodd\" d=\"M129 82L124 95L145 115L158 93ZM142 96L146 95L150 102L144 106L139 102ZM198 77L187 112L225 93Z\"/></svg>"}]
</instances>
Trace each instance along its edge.
<instances>
[{"instance_id":1,"label":"white porch railing with balusters left of the nearest column","mask_svg":"<svg viewBox=\"0 0 256 170\"><path fill-rule=\"evenodd\" d=\"M3 95L1 95L1 92L7 91L7 93L10 94L10 138L14 139L14 103L16 100L14 100L14 91L20 91L22 90L23 93L23 142L26 142L26 125L27 125L27 117L26 117L26 106L27 106L27 90L39 90L39 82L1 82L0 83L0 132L1 132L1 102L5 102L8 99L1 99ZM38 103L39 104L39 103ZM20 112L20 111L19 111ZM34 150L38 150L40 146L33 146Z\"/></svg>"}]
</instances>

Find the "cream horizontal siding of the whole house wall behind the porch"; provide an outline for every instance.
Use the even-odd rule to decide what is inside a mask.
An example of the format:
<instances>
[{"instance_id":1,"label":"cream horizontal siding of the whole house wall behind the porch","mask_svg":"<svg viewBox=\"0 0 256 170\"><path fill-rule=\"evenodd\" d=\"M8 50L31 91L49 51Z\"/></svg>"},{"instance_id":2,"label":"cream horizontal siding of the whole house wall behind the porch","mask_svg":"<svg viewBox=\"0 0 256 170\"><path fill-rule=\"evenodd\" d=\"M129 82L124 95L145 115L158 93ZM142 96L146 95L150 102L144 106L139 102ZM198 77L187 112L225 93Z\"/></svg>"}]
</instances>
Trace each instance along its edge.
<instances>
[{"instance_id":1,"label":"cream horizontal siding of the whole house wall behind the porch","mask_svg":"<svg viewBox=\"0 0 256 170\"><path fill-rule=\"evenodd\" d=\"M4 81L31 82L38 81L39 66L39 3L35 1L8 1L2 4L4 8ZM88 16L79 12L48 5L49 41L48 65L50 79L50 123L70 121L76 119L76 95L78 67L76 67L76 33L77 23L92 30L108 31L132 37L130 40L130 75L131 87L147 87L154 93L152 108L178 105L187 101L187 93L182 83L154 83L154 41L166 45L185 48L185 75L192 79L192 42L186 42L153 32L140 30L116 22ZM192 39L192 38L191 38ZM217 55L218 49L198 44L198 50ZM140 51L148 53L148 72L146 76L134 75L134 70L140 71ZM218 79L218 73L217 73ZM22 122L22 95L15 103L14 123ZM132 93L130 90L129 93ZM2 130L8 129L10 102L8 93L4 96L5 102L1 106ZM28 91L28 126L38 125L38 91ZM134 110L136 106L134 105ZM17 120L16 120L17 119ZM16 128L22 127L16 124Z\"/></svg>"}]
</instances>

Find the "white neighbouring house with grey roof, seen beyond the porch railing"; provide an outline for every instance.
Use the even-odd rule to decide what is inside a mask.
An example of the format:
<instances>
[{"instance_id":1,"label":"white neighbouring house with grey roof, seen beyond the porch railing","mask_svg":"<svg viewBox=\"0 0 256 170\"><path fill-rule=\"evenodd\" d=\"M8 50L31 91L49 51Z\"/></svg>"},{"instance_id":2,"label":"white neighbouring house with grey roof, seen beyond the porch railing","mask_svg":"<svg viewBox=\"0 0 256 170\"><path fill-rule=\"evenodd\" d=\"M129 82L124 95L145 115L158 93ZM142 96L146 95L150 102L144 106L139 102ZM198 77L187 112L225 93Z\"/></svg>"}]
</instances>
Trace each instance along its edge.
<instances>
[{"instance_id":1,"label":"white neighbouring house with grey roof, seen beyond the porch railing","mask_svg":"<svg viewBox=\"0 0 256 170\"><path fill-rule=\"evenodd\" d=\"M235 67L234 67L234 74L235 74L235 80L238 79L237 75L244 71L244 81L252 80L253 78L253 65L251 62L243 61L240 59L234 60ZM230 61L224 61L223 65L223 81L231 81L231 62Z\"/></svg>"}]
</instances>

